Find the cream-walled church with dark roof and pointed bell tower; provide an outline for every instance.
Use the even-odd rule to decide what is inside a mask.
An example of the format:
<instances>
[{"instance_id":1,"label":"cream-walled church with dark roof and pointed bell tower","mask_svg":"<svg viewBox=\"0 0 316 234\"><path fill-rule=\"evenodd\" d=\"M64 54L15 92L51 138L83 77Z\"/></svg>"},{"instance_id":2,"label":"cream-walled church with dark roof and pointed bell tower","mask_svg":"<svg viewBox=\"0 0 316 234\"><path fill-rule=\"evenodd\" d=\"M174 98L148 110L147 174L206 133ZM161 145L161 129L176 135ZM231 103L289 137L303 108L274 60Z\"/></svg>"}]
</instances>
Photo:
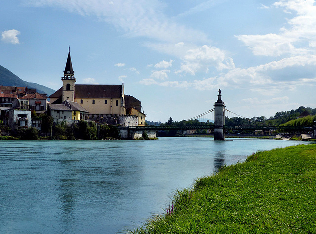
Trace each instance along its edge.
<instances>
[{"instance_id":1,"label":"cream-walled church with dark roof and pointed bell tower","mask_svg":"<svg viewBox=\"0 0 316 234\"><path fill-rule=\"evenodd\" d=\"M121 85L75 84L74 74L69 50L64 76L61 78L63 86L49 96L51 104L76 102L88 112L86 115L88 117L85 119L100 123L121 126L145 125L146 115L141 112L141 102L131 95L124 94L124 83ZM79 119L80 115L77 114L77 118L72 115L72 120Z\"/></svg>"}]
</instances>

